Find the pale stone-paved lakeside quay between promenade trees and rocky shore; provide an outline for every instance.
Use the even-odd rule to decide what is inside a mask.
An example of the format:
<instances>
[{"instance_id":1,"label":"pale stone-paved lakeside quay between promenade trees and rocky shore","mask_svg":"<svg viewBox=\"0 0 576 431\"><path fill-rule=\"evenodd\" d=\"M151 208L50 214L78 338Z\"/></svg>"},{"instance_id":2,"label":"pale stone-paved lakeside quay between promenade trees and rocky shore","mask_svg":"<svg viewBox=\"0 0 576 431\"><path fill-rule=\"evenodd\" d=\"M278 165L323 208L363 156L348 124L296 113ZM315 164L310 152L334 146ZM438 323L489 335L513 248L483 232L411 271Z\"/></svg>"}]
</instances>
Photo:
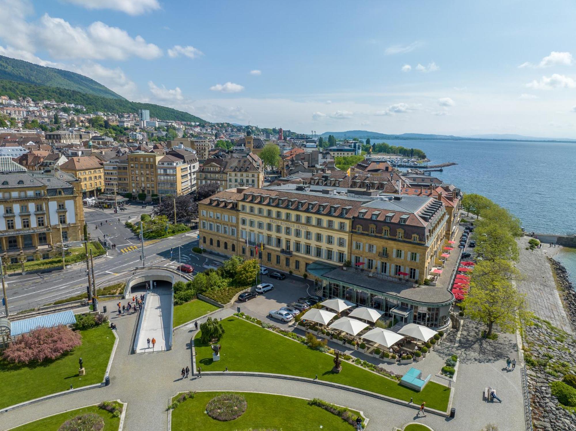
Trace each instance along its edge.
<instances>
[{"instance_id":1,"label":"pale stone-paved lakeside quay between promenade trees and rocky shore","mask_svg":"<svg viewBox=\"0 0 576 431\"><path fill-rule=\"evenodd\" d=\"M526 294L528 307L541 319L549 321L552 325L572 333L570 319L566 315L560 295L556 288L556 282L546 257L552 257L560 251L559 247L548 247L543 244L542 248L526 250L530 237L518 239L520 249L520 261L516 267L525 279L516 283L518 290Z\"/></svg>"}]
</instances>

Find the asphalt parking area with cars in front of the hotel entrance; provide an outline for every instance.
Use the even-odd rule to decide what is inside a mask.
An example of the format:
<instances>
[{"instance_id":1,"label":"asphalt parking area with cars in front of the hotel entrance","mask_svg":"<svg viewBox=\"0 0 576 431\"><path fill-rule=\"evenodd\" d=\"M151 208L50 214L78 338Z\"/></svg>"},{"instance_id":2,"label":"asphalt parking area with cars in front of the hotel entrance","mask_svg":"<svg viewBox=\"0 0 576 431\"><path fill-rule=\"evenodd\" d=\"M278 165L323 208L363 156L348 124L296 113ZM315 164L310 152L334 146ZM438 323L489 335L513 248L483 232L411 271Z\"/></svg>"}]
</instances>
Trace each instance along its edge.
<instances>
[{"instance_id":1,"label":"asphalt parking area with cars in front of the hotel entrance","mask_svg":"<svg viewBox=\"0 0 576 431\"><path fill-rule=\"evenodd\" d=\"M295 326L294 321L285 323L268 317L268 313L270 313L270 310L278 310L281 307L296 301L300 297L313 295L313 283L306 283L304 280L291 278L276 280L267 275L262 276L262 283L274 284L274 289L263 294L258 294L256 298L249 299L247 302L236 302L234 307L240 307L242 313L251 315L263 322L268 322L281 328L292 330Z\"/></svg>"}]
</instances>

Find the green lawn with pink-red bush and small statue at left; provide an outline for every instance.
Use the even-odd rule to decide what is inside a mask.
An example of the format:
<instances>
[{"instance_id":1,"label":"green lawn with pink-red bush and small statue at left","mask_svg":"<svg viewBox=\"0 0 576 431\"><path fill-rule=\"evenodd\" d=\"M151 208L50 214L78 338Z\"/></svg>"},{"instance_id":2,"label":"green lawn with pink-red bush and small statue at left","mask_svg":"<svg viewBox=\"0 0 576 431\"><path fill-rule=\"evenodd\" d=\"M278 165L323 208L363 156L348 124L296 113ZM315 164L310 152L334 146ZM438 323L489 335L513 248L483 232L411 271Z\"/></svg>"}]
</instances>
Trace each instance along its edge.
<instances>
[{"instance_id":1,"label":"green lawn with pink-red bush and small statue at left","mask_svg":"<svg viewBox=\"0 0 576 431\"><path fill-rule=\"evenodd\" d=\"M108 325L81 332L82 344L73 351L41 365L14 365L0 360L0 409L29 399L104 380L114 336ZM78 376L78 358L84 360L86 375Z\"/></svg>"}]
</instances>

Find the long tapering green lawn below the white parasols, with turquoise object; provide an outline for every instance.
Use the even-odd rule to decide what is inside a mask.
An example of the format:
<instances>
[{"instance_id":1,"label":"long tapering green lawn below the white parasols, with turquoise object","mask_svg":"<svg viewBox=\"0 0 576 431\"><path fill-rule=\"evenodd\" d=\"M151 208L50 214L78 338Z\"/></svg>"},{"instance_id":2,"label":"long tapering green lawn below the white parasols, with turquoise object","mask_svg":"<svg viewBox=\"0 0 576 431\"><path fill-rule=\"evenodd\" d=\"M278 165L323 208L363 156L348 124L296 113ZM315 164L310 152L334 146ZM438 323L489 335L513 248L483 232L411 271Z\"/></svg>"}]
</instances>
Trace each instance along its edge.
<instances>
[{"instance_id":1,"label":"long tapering green lawn below the white parasols, with turquoise object","mask_svg":"<svg viewBox=\"0 0 576 431\"><path fill-rule=\"evenodd\" d=\"M429 382L422 392L416 392L400 386L391 380L359 368L353 364L342 363L342 372L331 372L333 357L303 344L295 343L269 330L260 328L242 319L230 317L222 320L225 334L219 343L222 345L221 360L212 361L209 345L200 343L196 334L196 366L203 371L257 371L274 374L289 374L328 380L348 386L362 388L388 397L420 404L426 401L430 409L446 411L450 389L441 384ZM200 332L200 331L199 331Z\"/></svg>"}]
</instances>

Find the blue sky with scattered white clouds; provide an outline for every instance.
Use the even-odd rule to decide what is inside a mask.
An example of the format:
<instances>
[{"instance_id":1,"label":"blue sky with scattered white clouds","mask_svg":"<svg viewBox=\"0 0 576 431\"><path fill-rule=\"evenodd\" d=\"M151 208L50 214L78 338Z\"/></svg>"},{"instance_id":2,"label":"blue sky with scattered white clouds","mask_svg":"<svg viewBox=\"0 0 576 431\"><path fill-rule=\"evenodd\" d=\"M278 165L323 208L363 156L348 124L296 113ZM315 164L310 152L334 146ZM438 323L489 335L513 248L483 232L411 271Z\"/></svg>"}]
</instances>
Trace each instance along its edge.
<instances>
[{"instance_id":1,"label":"blue sky with scattered white clouds","mask_svg":"<svg viewBox=\"0 0 576 431\"><path fill-rule=\"evenodd\" d=\"M572 1L0 0L0 55L204 120L576 138Z\"/></svg>"}]
</instances>

